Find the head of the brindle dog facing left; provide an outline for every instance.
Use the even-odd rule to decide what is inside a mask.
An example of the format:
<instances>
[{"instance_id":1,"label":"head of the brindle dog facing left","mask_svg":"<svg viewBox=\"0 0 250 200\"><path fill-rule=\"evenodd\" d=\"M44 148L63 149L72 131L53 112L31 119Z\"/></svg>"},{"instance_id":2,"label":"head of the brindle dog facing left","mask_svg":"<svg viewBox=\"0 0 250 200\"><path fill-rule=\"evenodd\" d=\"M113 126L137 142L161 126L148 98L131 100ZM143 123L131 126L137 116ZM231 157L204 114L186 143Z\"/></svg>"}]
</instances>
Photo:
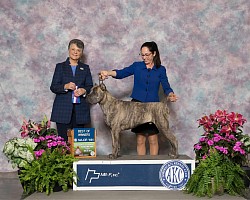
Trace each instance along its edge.
<instances>
[{"instance_id":1,"label":"head of the brindle dog facing left","mask_svg":"<svg viewBox=\"0 0 250 200\"><path fill-rule=\"evenodd\" d=\"M87 101L91 104L97 104L102 101L107 89L106 86L101 83L99 85L93 86L90 93L87 95Z\"/></svg>"}]
</instances>

